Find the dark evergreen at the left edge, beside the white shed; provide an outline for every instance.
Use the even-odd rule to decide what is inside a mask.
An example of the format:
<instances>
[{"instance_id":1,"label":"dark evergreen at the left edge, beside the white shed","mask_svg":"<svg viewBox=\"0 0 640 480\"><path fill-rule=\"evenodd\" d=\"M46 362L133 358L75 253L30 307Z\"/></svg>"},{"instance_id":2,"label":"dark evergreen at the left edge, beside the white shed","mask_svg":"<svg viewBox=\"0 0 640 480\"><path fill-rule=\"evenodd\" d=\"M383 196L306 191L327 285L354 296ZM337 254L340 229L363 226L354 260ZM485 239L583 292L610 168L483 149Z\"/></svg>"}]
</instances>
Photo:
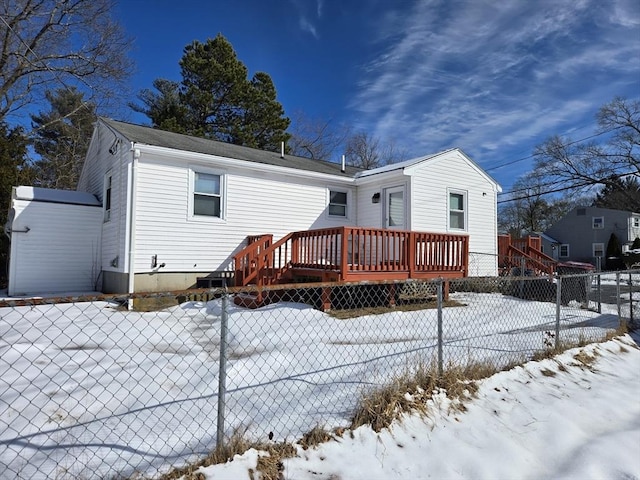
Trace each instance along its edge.
<instances>
[{"instance_id":1,"label":"dark evergreen at the left edge, beside the white shed","mask_svg":"<svg viewBox=\"0 0 640 480\"><path fill-rule=\"evenodd\" d=\"M20 127L10 129L0 122L0 228L7 222L11 189L31 185L32 169L27 162L27 138ZM9 238L0 232L0 288L7 285Z\"/></svg>"}]
</instances>

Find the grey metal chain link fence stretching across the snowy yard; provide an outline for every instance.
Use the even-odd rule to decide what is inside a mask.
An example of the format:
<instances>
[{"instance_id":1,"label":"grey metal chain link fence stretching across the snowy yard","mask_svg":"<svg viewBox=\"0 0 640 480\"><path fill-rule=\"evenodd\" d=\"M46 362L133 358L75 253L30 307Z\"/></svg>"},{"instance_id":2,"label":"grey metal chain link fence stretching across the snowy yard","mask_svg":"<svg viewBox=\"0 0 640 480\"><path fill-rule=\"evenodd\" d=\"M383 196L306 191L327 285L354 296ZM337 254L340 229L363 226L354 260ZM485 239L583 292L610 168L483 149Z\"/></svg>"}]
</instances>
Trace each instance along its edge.
<instances>
[{"instance_id":1,"label":"grey metal chain link fence stretching across the snowy yard","mask_svg":"<svg viewBox=\"0 0 640 480\"><path fill-rule=\"evenodd\" d=\"M237 431L295 441L419 365L507 368L639 303L640 271L0 301L0 478L153 478Z\"/></svg>"}]
</instances>

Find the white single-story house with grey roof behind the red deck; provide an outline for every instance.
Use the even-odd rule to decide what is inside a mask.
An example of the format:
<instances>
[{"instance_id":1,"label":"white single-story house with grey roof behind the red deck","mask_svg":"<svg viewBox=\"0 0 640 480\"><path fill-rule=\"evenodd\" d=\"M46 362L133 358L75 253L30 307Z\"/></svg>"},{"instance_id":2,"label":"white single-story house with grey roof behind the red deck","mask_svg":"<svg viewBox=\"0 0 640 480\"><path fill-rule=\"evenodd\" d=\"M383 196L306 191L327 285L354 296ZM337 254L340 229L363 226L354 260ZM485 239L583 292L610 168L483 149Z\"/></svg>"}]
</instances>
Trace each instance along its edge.
<instances>
[{"instance_id":1,"label":"white single-story house with grey roof behind the red deck","mask_svg":"<svg viewBox=\"0 0 640 480\"><path fill-rule=\"evenodd\" d=\"M100 118L78 190L102 204L106 293L234 270L249 236L367 227L468 236L496 275L500 186L458 149L363 171Z\"/></svg>"}]
</instances>

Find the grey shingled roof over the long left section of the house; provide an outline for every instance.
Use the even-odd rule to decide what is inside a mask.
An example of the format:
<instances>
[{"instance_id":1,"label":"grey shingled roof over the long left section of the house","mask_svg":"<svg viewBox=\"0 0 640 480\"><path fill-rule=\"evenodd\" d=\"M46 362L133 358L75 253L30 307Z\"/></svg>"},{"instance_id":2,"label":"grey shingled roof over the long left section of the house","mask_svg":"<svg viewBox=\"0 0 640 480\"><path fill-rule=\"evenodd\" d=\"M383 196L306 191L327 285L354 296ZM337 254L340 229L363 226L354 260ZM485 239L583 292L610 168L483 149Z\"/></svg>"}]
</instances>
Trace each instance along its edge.
<instances>
[{"instance_id":1,"label":"grey shingled roof over the long left section of the house","mask_svg":"<svg viewBox=\"0 0 640 480\"><path fill-rule=\"evenodd\" d=\"M192 137L181 133L168 132L142 125L120 122L105 117L100 117L99 121L104 123L109 129L125 137L128 141L144 145L203 153L205 155L216 155L219 157L233 158L247 162L350 178L353 178L358 172L362 171L361 168L347 166L345 171L342 172L341 165L339 163L296 157L294 155L287 154L282 158L280 153L277 152L268 152L265 150L243 147L207 138Z\"/></svg>"}]
</instances>

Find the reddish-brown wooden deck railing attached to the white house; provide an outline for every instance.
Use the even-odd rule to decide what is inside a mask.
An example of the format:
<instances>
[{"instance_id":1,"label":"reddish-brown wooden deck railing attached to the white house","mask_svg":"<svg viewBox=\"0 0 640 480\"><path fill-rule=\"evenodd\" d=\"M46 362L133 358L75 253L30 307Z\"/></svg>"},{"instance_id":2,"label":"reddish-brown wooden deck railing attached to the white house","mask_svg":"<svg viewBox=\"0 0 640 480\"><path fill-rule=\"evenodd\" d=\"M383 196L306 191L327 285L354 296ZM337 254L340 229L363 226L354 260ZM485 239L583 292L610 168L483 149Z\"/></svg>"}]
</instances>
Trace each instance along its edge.
<instances>
[{"instance_id":1,"label":"reddish-brown wooden deck railing attached to the white house","mask_svg":"<svg viewBox=\"0 0 640 480\"><path fill-rule=\"evenodd\" d=\"M236 285L270 285L288 272L338 281L468 273L466 235L337 227L293 232L269 245L258 238L234 258Z\"/></svg>"}]
</instances>

